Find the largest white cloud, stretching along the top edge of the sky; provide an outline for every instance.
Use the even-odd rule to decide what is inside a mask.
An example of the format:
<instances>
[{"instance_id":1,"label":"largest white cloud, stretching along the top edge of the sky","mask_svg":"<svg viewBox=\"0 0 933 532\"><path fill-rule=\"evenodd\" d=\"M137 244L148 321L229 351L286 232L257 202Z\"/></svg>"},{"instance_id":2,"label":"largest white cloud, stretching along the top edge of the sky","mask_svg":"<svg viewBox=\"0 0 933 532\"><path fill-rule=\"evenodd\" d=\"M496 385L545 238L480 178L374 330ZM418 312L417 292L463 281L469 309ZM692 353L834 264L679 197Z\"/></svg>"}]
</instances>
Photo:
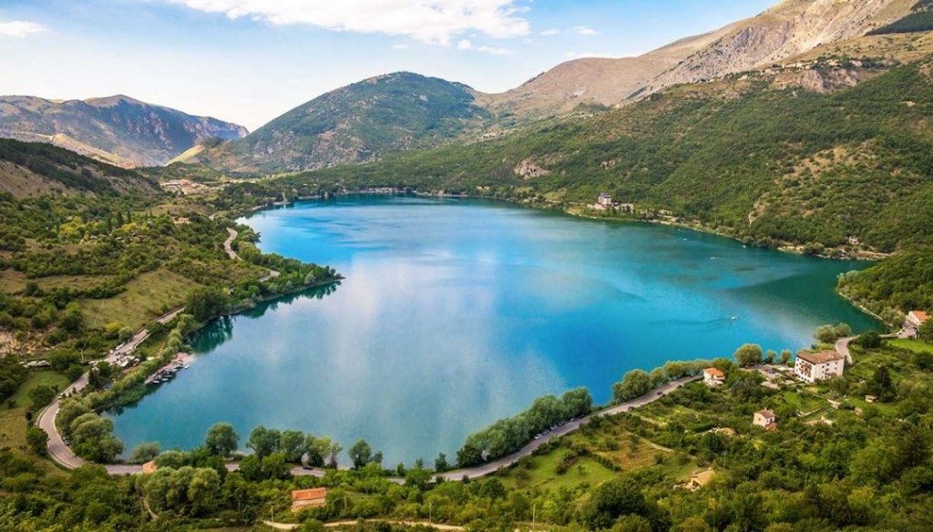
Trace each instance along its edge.
<instances>
[{"instance_id":1,"label":"largest white cloud, stretching along the top edge of the sky","mask_svg":"<svg viewBox=\"0 0 933 532\"><path fill-rule=\"evenodd\" d=\"M341 32L404 35L449 45L479 32L494 38L528 35L517 0L163 0L230 19L307 24Z\"/></svg>"}]
</instances>

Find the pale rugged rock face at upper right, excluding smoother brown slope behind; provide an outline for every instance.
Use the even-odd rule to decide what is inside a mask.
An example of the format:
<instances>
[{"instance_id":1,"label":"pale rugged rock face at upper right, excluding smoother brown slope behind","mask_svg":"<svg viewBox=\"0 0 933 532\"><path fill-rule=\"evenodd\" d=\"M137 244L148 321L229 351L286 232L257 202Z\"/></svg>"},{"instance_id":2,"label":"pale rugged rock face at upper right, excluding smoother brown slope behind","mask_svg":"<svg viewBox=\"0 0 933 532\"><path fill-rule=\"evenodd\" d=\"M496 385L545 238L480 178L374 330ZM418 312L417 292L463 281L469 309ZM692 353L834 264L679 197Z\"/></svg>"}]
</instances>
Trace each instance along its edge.
<instances>
[{"instance_id":1,"label":"pale rugged rock face at upper right, excluding smoother brown slope behind","mask_svg":"<svg viewBox=\"0 0 933 532\"><path fill-rule=\"evenodd\" d=\"M646 92L756 70L829 43L859 37L902 17L914 3L785 0L758 17L727 26L710 46L653 79Z\"/></svg>"}]
</instances>

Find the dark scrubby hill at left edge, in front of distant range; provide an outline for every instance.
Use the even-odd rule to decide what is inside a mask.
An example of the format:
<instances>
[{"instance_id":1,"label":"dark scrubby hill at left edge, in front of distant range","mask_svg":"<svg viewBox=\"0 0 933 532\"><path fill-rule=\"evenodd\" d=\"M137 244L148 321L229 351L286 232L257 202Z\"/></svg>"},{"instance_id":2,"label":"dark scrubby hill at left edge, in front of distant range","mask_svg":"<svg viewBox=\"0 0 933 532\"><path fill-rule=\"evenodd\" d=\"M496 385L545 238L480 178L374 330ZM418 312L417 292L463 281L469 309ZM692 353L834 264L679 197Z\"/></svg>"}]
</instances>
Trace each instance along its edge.
<instances>
[{"instance_id":1,"label":"dark scrubby hill at left edge, in front of distant range","mask_svg":"<svg viewBox=\"0 0 933 532\"><path fill-rule=\"evenodd\" d=\"M158 185L136 172L46 143L0 139L0 192L44 194L155 194Z\"/></svg>"}]
</instances>

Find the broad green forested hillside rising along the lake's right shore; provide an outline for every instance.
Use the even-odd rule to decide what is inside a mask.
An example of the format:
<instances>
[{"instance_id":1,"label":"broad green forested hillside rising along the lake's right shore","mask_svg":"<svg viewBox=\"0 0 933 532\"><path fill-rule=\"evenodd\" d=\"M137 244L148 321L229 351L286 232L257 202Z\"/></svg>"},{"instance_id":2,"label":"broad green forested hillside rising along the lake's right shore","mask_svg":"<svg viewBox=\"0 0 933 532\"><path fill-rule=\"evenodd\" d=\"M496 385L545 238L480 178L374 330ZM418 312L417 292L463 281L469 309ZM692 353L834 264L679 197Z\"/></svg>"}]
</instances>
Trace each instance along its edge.
<instances>
[{"instance_id":1,"label":"broad green forested hillside rising along the lake's right shore","mask_svg":"<svg viewBox=\"0 0 933 532\"><path fill-rule=\"evenodd\" d=\"M854 237L859 248L891 252L930 243L931 63L886 72L869 60L824 60L807 69L838 71L867 80L822 93L750 74L677 87L592 119L292 179L564 206L609 192L646 216L670 210L761 245L820 249Z\"/></svg>"}]
</instances>

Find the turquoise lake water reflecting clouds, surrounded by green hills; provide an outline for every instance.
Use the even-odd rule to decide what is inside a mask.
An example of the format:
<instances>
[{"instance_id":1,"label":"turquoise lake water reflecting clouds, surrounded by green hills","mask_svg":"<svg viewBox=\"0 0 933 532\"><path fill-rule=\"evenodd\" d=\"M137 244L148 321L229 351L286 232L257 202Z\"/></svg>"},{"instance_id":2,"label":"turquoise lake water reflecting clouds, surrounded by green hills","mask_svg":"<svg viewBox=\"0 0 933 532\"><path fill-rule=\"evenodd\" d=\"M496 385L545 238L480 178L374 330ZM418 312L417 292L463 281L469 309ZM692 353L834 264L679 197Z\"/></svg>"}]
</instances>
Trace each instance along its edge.
<instances>
[{"instance_id":1,"label":"turquoise lake water reflecting clouds, surrounded by green hills","mask_svg":"<svg viewBox=\"0 0 933 532\"><path fill-rule=\"evenodd\" d=\"M837 296L867 263L745 248L676 228L506 203L347 197L246 220L264 251L327 264L340 287L217 321L187 371L114 415L127 449L200 443L228 421L365 438L393 466L584 385L605 402L625 371L799 349L813 330L875 325ZM329 292L329 293L328 293Z\"/></svg>"}]
</instances>

